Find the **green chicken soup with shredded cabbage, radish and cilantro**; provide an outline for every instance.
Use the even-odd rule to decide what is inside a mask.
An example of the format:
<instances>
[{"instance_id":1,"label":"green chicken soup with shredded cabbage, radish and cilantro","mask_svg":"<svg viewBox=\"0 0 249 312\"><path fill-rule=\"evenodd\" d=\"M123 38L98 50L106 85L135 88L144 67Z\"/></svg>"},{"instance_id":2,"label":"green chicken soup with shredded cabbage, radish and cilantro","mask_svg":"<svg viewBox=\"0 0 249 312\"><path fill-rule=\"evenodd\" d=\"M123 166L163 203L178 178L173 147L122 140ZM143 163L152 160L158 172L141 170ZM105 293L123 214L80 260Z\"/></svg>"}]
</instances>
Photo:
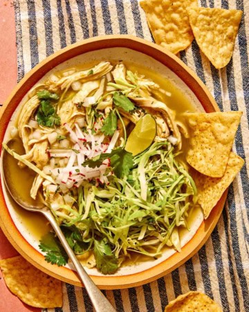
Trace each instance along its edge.
<instances>
[{"instance_id":1,"label":"green chicken soup with shredded cabbage, radish and cilantro","mask_svg":"<svg viewBox=\"0 0 249 312\"><path fill-rule=\"evenodd\" d=\"M24 148L19 191L42 193L75 254L104 274L165 248L181 252L196 207L183 114L195 110L169 80L129 62L55 71L33 88L12 128ZM45 235L46 221L18 213L42 237L46 260L66 264L65 255L49 257L59 242Z\"/></svg>"}]
</instances>

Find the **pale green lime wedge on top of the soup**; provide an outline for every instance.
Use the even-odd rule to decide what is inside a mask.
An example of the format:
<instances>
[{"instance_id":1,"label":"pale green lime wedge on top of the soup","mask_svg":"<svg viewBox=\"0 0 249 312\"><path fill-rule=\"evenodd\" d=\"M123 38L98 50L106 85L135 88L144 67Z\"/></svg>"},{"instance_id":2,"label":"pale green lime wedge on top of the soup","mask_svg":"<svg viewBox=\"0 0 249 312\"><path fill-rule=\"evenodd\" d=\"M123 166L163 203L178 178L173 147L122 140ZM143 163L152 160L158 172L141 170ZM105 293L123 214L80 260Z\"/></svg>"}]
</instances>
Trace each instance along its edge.
<instances>
[{"instance_id":1,"label":"pale green lime wedge on top of the soup","mask_svg":"<svg viewBox=\"0 0 249 312\"><path fill-rule=\"evenodd\" d=\"M138 155L151 146L155 137L156 120L150 114L146 114L136 123L124 149L133 156Z\"/></svg>"}]
</instances>

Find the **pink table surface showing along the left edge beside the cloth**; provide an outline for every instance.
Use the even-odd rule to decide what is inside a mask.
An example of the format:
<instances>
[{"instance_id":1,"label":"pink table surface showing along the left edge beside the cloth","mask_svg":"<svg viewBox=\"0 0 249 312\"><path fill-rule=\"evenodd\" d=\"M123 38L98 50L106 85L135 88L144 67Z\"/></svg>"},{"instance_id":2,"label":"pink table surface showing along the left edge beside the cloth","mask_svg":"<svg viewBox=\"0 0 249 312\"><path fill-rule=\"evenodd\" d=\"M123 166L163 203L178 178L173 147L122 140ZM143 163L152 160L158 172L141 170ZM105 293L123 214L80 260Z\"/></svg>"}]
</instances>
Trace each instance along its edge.
<instances>
[{"instance_id":1,"label":"pink table surface showing along the left edge beside the cloth","mask_svg":"<svg viewBox=\"0 0 249 312\"><path fill-rule=\"evenodd\" d=\"M0 104L6 101L13 87L17 84L17 49L15 40L15 14L12 1L0 0ZM17 255L18 252L12 248L12 245L10 245L0 229L0 259ZM41 311L41 309L32 308L24 304L8 290L1 270L0 294L0 312Z\"/></svg>"}]
</instances>

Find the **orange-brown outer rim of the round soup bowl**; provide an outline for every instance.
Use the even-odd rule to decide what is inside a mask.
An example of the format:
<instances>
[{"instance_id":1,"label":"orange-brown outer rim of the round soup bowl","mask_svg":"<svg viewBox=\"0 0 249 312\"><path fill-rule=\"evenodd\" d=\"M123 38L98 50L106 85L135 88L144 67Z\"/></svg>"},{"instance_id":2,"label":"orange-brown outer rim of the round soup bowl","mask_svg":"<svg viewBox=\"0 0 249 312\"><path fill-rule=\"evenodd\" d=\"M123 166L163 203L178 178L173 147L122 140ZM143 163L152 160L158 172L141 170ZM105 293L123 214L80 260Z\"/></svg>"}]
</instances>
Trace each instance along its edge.
<instances>
[{"instance_id":1,"label":"orange-brown outer rim of the round soup bowl","mask_svg":"<svg viewBox=\"0 0 249 312\"><path fill-rule=\"evenodd\" d=\"M86 52L96 51L107 48L129 48L133 51L138 51L149 55L154 60L157 60L161 64L168 67L173 71L183 82L189 87L196 98L203 106L205 112L219 111L219 107L216 105L214 98L212 98L210 92L196 76L181 60L179 60L172 53L161 49L160 46L147 42L137 37L129 35L109 35L102 37L95 37L89 40L78 42L71 46L67 46L65 49L58 51L57 53L50 55L43 62L39 63L33 70L31 70L15 87L6 101L5 111L1 116L1 130L0 139L3 141L3 136L6 132L7 125L10 121L10 117L19 105L21 99L26 95L37 81L42 78L50 69L61 64L62 62L69 60L77 55L84 54ZM136 60L135 60L136 61ZM182 252L175 253L167 260L159 263L153 268L143 270L131 275L124 276L93 276L93 281L102 289L117 289L117 288L128 288L133 286L139 286L149 281L153 281L168 274L181 264L185 263L187 259L190 259L201 246L207 241L216 223L219 220L221 211L223 209L227 191L223 194L221 200L217 203L216 207L212 210L208 220L203 221L201 226L194 234L193 238L183 248ZM30 263L40 270L66 281L76 286L82 286L80 280L77 278L77 274L64 267L53 266L44 260L44 256L37 252L32 245L30 245L24 237L17 230L17 227L10 217L8 208L6 206L5 199L3 197L3 190L0 188L0 225L3 232L6 234L8 240L17 249L17 251Z\"/></svg>"}]
</instances>

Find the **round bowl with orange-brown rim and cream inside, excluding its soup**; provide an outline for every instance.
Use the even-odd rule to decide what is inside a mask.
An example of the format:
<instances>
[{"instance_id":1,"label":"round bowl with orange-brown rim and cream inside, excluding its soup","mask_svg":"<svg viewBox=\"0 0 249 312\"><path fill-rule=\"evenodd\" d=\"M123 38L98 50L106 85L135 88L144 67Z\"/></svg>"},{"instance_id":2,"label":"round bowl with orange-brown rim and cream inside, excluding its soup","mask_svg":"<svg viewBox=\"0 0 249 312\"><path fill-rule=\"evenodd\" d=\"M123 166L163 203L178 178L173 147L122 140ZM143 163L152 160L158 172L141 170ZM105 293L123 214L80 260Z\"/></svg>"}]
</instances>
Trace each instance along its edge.
<instances>
[{"instance_id":1,"label":"round bowl with orange-brown rim and cream inside, excluding its soup","mask_svg":"<svg viewBox=\"0 0 249 312\"><path fill-rule=\"evenodd\" d=\"M97 62L100 60L124 60L140 64L148 70L158 72L170 79L176 88L189 98L196 110L205 112L219 111L214 98L196 76L175 55L161 49L160 46L129 35L109 35L95 37L73 44L50 55L32 69L15 87L6 101L1 116L1 141L8 139L10 119L18 114L19 104L24 102L30 89L47 76L51 70L71 67L79 62ZM13 117L12 117L13 116ZM21 182L21 177L20 178ZM207 241L223 209L227 191L212 210L208 220L203 220L201 211L197 211L196 220L188 234L184 236L184 246L180 253L169 251L159 260L138 263L123 268L116 275L104 276L94 269L89 274L102 289L128 288L153 281L171 272L190 259ZM82 286L77 274L70 266L58 267L44 260L44 255L37 248L37 239L21 221L17 209L10 200L1 178L0 188L0 225L8 240L16 250L30 263L57 279L76 286Z\"/></svg>"}]
</instances>

